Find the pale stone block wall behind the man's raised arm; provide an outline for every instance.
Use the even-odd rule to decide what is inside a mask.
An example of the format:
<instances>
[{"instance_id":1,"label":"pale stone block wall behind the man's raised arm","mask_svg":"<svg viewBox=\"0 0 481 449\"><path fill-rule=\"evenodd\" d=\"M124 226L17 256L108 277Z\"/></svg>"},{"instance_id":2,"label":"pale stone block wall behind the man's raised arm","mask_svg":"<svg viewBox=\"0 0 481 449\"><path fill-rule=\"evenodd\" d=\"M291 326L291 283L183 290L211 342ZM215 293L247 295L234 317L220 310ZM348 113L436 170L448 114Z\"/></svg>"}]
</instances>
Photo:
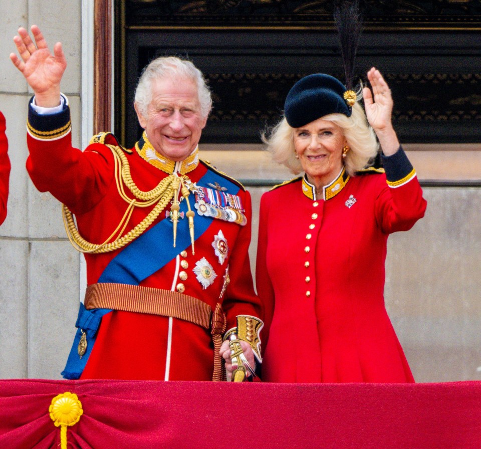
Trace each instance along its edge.
<instances>
[{"instance_id":1,"label":"pale stone block wall behind the man's raised arm","mask_svg":"<svg viewBox=\"0 0 481 449\"><path fill-rule=\"evenodd\" d=\"M78 310L80 256L66 239L59 202L40 193L25 169L32 93L9 54L21 26L38 25L51 49L62 41L68 62L62 91L70 100L72 139L80 146L81 3L0 0L0 10L0 110L12 162L9 211L0 227L0 377L59 378Z\"/></svg>"}]
</instances>

